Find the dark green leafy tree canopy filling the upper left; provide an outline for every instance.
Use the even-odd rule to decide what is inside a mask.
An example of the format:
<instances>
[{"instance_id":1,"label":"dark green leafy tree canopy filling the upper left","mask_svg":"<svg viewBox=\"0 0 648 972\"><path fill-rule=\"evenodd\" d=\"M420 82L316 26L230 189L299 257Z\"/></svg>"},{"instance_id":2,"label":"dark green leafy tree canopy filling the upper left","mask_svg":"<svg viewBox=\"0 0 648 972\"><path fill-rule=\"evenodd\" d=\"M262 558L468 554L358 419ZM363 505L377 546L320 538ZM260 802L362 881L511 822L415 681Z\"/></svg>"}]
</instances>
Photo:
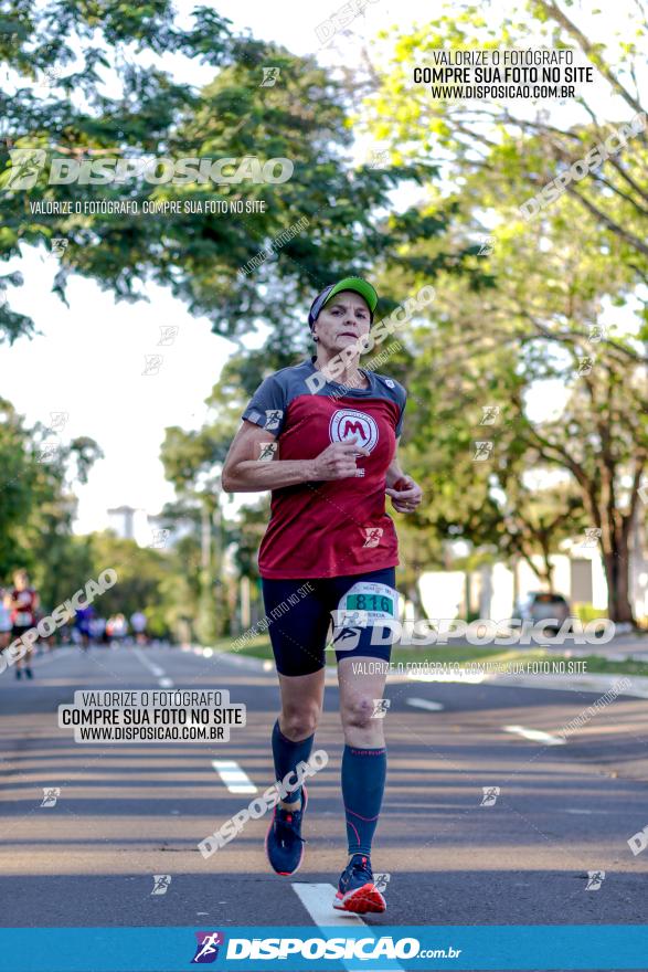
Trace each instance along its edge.
<instances>
[{"instance_id":1,"label":"dark green leafy tree canopy filling the upper left","mask_svg":"<svg viewBox=\"0 0 648 972\"><path fill-rule=\"evenodd\" d=\"M18 0L8 4L3 29L13 40L0 52L17 81L49 71L52 86L44 99L20 84L15 94L0 96L6 139L0 253L9 258L24 243L52 249L54 239L63 239L54 285L63 299L72 273L130 302L146 299L155 281L184 299L192 314L208 316L217 334L240 339L263 319L275 331L275 346L289 345L308 295L342 273L367 271L407 239L405 223L396 216L379 221L374 213L390 210L389 192L403 180L421 182L429 167L352 170L342 92L312 59L235 36L205 7L196 8L188 31L173 24L166 2L121 6L118 14L108 8L54 0L46 11L28 15ZM217 73L196 92L156 67L124 63L118 45L180 52L208 61ZM82 52L76 61L73 47ZM117 99L99 93L100 70L110 66L123 82ZM273 86L263 84L267 68L277 71ZM73 92L83 94L83 107ZM33 188L12 189L17 169L9 154L20 149L44 151L47 163L54 157L89 163L142 156L245 161L238 182L156 184L140 172L95 186L92 201L140 207L139 214L102 214L83 211L87 186L47 184L49 165ZM254 181L261 154L262 162L287 159L294 167L289 180ZM34 211L36 203L74 209L76 202L81 213ZM180 203L181 212L145 215L145 202ZM206 203L242 212L210 213ZM187 212L185 204L203 210ZM296 225L300 229L290 235ZM249 262L262 251L252 272ZM0 279L0 288L7 292L9 283L18 285L19 278ZM0 331L9 339L29 327L9 303L0 307Z\"/></svg>"}]
</instances>

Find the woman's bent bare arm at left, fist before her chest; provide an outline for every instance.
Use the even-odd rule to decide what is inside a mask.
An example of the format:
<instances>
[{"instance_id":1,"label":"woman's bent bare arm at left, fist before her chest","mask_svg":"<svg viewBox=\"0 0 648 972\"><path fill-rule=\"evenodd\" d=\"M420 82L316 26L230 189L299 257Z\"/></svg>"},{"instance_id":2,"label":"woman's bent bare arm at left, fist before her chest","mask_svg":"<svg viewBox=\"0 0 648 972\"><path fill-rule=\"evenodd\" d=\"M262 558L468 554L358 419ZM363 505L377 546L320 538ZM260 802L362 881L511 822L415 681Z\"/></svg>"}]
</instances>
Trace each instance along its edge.
<instances>
[{"instance_id":1,"label":"woman's bent bare arm at left, fist before her chest","mask_svg":"<svg viewBox=\"0 0 648 972\"><path fill-rule=\"evenodd\" d=\"M225 493L257 493L299 483L355 476L354 453L369 455L355 442L336 442L311 459L277 458L278 443L270 432L247 420L230 446L221 482ZM265 455L265 458L259 456Z\"/></svg>"}]
</instances>

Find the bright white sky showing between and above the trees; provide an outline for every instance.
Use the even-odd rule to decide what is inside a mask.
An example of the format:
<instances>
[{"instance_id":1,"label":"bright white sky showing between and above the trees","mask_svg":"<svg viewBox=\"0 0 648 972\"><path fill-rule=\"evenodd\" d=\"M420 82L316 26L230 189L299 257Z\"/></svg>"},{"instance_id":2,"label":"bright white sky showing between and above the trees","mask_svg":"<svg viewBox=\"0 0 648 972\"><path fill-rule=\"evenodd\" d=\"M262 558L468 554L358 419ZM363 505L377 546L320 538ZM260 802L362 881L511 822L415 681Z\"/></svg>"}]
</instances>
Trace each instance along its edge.
<instances>
[{"instance_id":1,"label":"bright white sky showing between and above the trees","mask_svg":"<svg viewBox=\"0 0 648 972\"><path fill-rule=\"evenodd\" d=\"M615 4L616 18L626 3L631 0ZM176 6L178 23L184 25L193 0ZM233 21L235 30L251 28L257 38L306 54L318 50L316 29L340 6L332 3L329 9L297 0L272 4L223 0L216 9ZM489 4L481 7L487 11ZM425 22L429 11L423 0L373 0L351 25L353 36L320 50L318 57L325 65L352 66L363 39L394 24L405 30L416 20ZM577 12L577 19L581 17L582 10ZM607 15L594 23L603 33L613 27ZM184 57L164 55L161 64L178 81L196 86L213 76L213 68ZM106 92L110 85L108 77ZM357 157L364 150L359 145ZM31 340L21 338L10 348L0 346L0 393L29 423L47 424L51 412L67 413L61 439L89 435L105 454L91 472L88 484L77 490L75 531L107 527L108 507L126 504L158 513L173 499L159 459L164 429L202 424L204 399L234 346L213 335L206 319L190 316L183 304L161 287L148 288L148 303L117 303L96 283L72 276L66 307L51 292L55 258L42 249L25 247L22 257L4 264L1 272L17 270L24 276L24 286L12 292L12 306L32 317L39 334ZM178 328L172 344L160 346L161 327ZM253 344L259 341L261 336L253 338ZM147 366L147 356L153 355L162 358L157 368L150 362Z\"/></svg>"}]
</instances>

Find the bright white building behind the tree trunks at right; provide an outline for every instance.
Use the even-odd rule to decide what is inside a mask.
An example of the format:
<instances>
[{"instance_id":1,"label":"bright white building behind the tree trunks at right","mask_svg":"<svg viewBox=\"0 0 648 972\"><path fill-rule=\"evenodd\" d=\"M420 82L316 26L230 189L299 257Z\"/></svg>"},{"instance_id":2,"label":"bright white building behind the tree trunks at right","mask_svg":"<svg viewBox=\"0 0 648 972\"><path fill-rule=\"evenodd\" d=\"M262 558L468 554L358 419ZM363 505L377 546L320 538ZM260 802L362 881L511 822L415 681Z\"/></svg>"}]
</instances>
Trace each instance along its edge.
<instances>
[{"instance_id":1,"label":"bright white building behind the tree trunks at right","mask_svg":"<svg viewBox=\"0 0 648 972\"><path fill-rule=\"evenodd\" d=\"M583 538L567 540L561 552L550 557L553 590L574 608L591 604L607 610L607 581L598 547L583 546ZM646 529L637 517L629 554L630 603L637 621L648 621L648 556ZM542 558L532 562L539 567ZM503 562L465 571L426 571L418 581L421 600L428 617L479 617L502 621L513 615L516 603L531 591L546 590L530 564L519 559L511 569Z\"/></svg>"}]
</instances>

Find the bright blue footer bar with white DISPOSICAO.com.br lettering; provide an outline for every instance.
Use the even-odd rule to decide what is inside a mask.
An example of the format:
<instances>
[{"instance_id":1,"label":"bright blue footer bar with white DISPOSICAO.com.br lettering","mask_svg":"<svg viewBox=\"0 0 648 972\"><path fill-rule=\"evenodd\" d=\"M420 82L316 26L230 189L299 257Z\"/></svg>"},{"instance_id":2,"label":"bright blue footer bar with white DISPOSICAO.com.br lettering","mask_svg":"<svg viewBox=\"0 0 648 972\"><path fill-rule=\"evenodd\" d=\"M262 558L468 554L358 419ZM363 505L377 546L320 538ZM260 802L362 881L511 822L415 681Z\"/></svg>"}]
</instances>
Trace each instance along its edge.
<instances>
[{"instance_id":1,"label":"bright blue footer bar with white DISPOSICAO.com.br lettering","mask_svg":"<svg viewBox=\"0 0 648 972\"><path fill-rule=\"evenodd\" d=\"M646 925L6 928L1 972L648 969Z\"/></svg>"}]
</instances>

